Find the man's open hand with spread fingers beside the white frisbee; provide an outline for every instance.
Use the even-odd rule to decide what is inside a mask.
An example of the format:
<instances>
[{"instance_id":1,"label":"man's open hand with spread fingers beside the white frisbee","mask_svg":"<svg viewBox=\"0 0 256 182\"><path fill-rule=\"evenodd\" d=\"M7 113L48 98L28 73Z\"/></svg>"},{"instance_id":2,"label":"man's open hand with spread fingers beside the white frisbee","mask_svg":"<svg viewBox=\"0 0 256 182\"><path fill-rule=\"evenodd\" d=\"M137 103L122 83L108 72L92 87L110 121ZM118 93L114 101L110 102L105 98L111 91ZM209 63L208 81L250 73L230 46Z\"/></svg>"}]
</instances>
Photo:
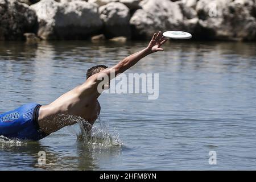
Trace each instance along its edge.
<instances>
[{"instance_id":1,"label":"man's open hand with spread fingers beside the white frisbee","mask_svg":"<svg viewBox=\"0 0 256 182\"><path fill-rule=\"evenodd\" d=\"M168 39L164 38L162 35L162 32L158 32L153 35L150 43L148 44L147 48L150 50L151 53L157 52L157 51L163 51L163 48L161 47L164 43L167 42Z\"/></svg>"}]
</instances>

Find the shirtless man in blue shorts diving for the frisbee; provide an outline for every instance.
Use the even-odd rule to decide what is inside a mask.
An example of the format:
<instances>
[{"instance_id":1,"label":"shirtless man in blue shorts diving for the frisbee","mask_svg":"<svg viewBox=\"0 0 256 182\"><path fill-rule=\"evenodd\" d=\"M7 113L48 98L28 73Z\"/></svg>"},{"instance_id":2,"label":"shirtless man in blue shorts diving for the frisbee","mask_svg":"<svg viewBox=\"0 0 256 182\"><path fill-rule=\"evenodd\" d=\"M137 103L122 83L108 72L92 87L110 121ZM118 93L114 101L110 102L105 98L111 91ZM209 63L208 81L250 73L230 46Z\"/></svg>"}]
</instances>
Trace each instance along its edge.
<instances>
[{"instance_id":1,"label":"shirtless man in blue shorts diving for the frisbee","mask_svg":"<svg viewBox=\"0 0 256 182\"><path fill-rule=\"evenodd\" d=\"M102 81L100 78L104 76L110 78L110 73L117 76L138 63L143 57L157 51L163 51L160 46L166 41L167 39L164 38L162 32L155 33L146 48L125 57L112 68L97 65L88 69L87 80L84 84L76 86L51 104L41 106L31 103L0 114L0 135L8 138L40 140L65 126L75 124L76 119L68 119L71 115L82 118L93 125L101 110L98 102L98 97L102 93L99 92L98 88Z\"/></svg>"}]
</instances>

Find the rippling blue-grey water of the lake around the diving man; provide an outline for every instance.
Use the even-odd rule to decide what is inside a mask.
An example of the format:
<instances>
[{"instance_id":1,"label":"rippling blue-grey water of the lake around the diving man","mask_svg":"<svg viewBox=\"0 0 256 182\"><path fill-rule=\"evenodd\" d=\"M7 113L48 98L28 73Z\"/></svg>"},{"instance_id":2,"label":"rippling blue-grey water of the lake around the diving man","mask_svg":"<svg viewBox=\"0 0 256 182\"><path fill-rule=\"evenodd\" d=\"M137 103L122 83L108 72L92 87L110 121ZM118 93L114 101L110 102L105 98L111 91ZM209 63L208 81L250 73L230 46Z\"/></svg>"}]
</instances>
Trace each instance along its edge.
<instances>
[{"instance_id":1,"label":"rippling blue-grey water of the lake around the diving man","mask_svg":"<svg viewBox=\"0 0 256 182\"><path fill-rule=\"evenodd\" d=\"M147 42L0 43L0 113L48 104ZM159 73L159 98L103 94L91 138L78 125L39 142L0 139L0 169L256 169L256 44L172 42L126 73ZM46 164L38 164L45 151ZM217 154L210 165L209 151Z\"/></svg>"}]
</instances>

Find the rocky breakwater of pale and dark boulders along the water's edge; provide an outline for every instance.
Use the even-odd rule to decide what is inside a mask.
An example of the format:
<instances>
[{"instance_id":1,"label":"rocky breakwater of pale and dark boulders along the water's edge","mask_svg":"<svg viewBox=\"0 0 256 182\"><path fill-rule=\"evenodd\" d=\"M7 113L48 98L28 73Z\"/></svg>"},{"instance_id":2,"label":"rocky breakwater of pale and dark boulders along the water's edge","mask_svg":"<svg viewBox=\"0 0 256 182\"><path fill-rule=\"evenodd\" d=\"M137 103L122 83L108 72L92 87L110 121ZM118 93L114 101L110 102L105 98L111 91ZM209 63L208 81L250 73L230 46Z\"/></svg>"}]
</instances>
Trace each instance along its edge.
<instances>
[{"instance_id":1,"label":"rocky breakwater of pale and dark boulders along the water's edge","mask_svg":"<svg viewBox=\"0 0 256 182\"><path fill-rule=\"evenodd\" d=\"M150 38L188 31L200 40L256 40L255 0L0 0L0 39ZM30 6L28 6L30 5Z\"/></svg>"}]
</instances>

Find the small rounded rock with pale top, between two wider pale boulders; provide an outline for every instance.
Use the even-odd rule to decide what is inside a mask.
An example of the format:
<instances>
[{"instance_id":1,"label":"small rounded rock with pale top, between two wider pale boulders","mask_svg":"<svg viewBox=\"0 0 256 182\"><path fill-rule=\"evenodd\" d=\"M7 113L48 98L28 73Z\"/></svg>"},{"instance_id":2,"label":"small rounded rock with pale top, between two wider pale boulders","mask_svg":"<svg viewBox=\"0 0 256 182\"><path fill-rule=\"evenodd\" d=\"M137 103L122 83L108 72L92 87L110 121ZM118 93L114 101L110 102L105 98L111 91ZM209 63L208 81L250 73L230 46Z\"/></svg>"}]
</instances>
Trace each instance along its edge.
<instances>
[{"instance_id":1,"label":"small rounded rock with pale top, between two wider pale boulders","mask_svg":"<svg viewBox=\"0 0 256 182\"><path fill-rule=\"evenodd\" d=\"M104 22L106 38L126 36L130 38L130 13L127 6L120 2L111 2L99 8L100 18Z\"/></svg>"}]
</instances>

